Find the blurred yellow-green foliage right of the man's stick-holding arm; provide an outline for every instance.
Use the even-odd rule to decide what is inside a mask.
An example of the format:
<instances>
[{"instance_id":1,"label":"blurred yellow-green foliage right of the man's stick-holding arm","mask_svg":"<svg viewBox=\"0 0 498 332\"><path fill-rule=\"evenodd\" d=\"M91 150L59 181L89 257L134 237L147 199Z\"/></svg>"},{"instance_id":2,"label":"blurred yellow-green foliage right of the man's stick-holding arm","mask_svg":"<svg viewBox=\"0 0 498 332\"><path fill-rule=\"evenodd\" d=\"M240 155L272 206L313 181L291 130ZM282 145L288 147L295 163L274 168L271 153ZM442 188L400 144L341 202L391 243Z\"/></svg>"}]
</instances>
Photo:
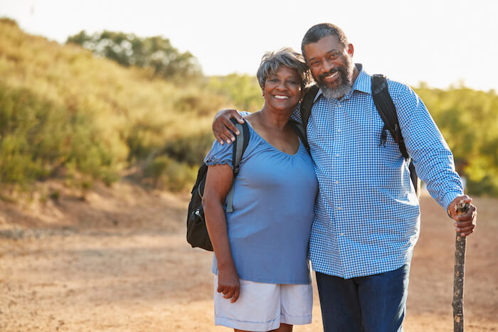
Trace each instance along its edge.
<instances>
[{"instance_id":1,"label":"blurred yellow-green foliage right of the man's stick-holding arm","mask_svg":"<svg viewBox=\"0 0 498 332\"><path fill-rule=\"evenodd\" d=\"M498 196L498 96L465 87L417 90L450 146L467 191Z\"/></svg>"}]
</instances>

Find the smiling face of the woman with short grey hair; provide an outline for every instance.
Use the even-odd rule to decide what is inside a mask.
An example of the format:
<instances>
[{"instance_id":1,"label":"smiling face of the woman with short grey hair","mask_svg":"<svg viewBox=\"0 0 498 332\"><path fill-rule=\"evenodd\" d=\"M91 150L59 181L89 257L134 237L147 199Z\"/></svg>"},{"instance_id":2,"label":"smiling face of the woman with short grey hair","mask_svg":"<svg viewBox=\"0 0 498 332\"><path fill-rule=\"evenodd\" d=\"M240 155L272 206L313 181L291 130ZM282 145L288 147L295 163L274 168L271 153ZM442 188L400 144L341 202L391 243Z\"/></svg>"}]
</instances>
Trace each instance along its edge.
<instances>
[{"instance_id":1,"label":"smiling face of the woman with short grey hair","mask_svg":"<svg viewBox=\"0 0 498 332\"><path fill-rule=\"evenodd\" d=\"M303 91L297 70L281 65L265 80L265 104L276 110L291 110L300 102Z\"/></svg>"}]
</instances>

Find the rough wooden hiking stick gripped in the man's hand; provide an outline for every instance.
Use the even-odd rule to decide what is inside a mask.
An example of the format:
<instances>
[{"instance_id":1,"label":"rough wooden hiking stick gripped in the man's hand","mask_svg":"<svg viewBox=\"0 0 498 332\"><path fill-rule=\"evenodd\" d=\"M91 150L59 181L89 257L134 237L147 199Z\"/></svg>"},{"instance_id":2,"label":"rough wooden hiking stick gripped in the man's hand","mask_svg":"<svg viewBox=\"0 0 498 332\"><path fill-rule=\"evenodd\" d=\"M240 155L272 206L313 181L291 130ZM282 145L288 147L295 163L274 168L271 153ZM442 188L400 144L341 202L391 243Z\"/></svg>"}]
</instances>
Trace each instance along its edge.
<instances>
[{"instance_id":1,"label":"rough wooden hiking stick gripped in the man's hand","mask_svg":"<svg viewBox=\"0 0 498 332\"><path fill-rule=\"evenodd\" d=\"M455 205L457 215L467 213L469 203L463 200ZM453 275L453 331L463 332L463 278L465 272L465 245L467 237L457 233L455 240L455 274Z\"/></svg>"}]
</instances>

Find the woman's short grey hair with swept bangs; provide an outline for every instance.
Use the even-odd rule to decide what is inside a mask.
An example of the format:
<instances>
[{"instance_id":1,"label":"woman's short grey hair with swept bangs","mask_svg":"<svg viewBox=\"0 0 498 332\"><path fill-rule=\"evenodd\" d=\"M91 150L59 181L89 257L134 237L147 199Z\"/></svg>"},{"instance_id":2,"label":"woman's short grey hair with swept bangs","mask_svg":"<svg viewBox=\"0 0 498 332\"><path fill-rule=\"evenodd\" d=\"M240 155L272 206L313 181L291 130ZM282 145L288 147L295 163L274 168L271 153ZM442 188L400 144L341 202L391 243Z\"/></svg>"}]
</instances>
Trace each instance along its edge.
<instances>
[{"instance_id":1,"label":"woman's short grey hair with swept bangs","mask_svg":"<svg viewBox=\"0 0 498 332\"><path fill-rule=\"evenodd\" d=\"M280 50L263 54L263 58L261 58L260 68L258 68L258 73L256 74L261 90L265 90L265 82L268 75L277 73L281 65L297 70L297 75L301 79L302 89L309 84L308 65L304 61L303 56L292 48L280 48Z\"/></svg>"}]
</instances>

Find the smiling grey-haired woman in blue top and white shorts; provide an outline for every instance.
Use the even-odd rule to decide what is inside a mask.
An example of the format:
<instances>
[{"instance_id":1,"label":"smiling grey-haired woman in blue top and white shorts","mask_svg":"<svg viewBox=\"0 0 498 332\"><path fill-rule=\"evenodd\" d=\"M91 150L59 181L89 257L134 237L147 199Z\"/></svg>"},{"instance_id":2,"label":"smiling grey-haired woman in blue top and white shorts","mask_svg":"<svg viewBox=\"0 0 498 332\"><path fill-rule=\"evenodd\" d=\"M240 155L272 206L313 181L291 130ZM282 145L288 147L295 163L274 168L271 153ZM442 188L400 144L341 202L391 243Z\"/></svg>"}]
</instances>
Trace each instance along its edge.
<instances>
[{"instance_id":1,"label":"smiling grey-haired woman in blue top and white shorts","mask_svg":"<svg viewBox=\"0 0 498 332\"><path fill-rule=\"evenodd\" d=\"M231 144L215 141L205 159L215 323L235 331L292 331L312 318L307 250L317 179L288 123L309 74L302 55L282 48L263 56L257 76L265 105L245 116L250 139L238 176ZM233 213L226 213L233 182Z\"/></svg>"}]
</instances>

